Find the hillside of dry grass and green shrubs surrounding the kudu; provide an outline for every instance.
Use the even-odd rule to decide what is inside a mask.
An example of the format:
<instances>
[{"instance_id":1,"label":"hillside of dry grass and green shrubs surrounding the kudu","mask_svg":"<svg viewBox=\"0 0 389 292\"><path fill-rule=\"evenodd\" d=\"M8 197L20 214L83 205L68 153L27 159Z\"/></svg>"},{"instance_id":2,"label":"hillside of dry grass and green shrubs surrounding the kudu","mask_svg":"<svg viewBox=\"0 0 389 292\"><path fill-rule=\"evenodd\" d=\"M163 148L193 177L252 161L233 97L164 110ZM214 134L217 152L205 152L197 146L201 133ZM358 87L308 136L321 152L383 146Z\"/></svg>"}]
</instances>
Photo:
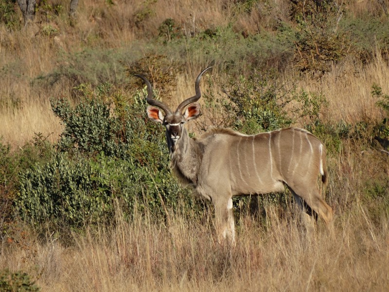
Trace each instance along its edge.
<instances>
[{"instance_id":1,"label":"hillside of dry grass and green shrubs surrounding the kudu","mask_svg":"<svg viewBox=\"0 0 389 292\"><path fill-rule=\"evenodd\" d=\"M38 2L23 25L0 0L0 290L388 290L387 1ZM334 238L285 190L237 198L236 248L217 242L132 77L174 108L209 65L191 135L313 132Z\"/></svg>"}]
</instances>

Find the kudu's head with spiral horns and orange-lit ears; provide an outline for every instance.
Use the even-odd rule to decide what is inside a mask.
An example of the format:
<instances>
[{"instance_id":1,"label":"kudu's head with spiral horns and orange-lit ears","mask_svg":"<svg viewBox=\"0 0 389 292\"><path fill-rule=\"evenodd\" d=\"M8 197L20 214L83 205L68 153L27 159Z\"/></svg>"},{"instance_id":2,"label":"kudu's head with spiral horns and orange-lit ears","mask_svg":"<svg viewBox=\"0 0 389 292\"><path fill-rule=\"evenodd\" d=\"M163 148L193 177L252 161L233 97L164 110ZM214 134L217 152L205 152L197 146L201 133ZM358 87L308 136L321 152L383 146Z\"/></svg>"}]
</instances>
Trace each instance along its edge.
<instances>
[{"instance_id":1,"label":"kudu's head with spiral horns and orange-lit ears","mask_svg":"<svg viewBox=\"0 0 389 292\"><path fill-rule=\"evenodd\" d=\"M199 83L203 73L210 68L212 67L209 67L205 69L203 72L201 72L200 74L198 74L195 81L195 92L196 92L195 96L192 96L188 99L185 99L183 102L181 102L177 107L176 111L170 110L162 102L153 99L153 88L150 82L147 80L146 77L142 75L135 75L143 79L143 81L147 85L146 101L148 104L151 105L147 107L147 116L153 122L161 123L163 126L166 127L166 138L168 140L169 146L176 145L177 141L182 137L182 134L185 131L184 124L189 120L196 119L200 115L200 105L197 102L197 100L201 97ZM182 111L185 109L186 106L188 107L186 108L185 112L182 113ZM162 109L163 112L161 112L159 108Z\"/></svg>"}]
</instances>

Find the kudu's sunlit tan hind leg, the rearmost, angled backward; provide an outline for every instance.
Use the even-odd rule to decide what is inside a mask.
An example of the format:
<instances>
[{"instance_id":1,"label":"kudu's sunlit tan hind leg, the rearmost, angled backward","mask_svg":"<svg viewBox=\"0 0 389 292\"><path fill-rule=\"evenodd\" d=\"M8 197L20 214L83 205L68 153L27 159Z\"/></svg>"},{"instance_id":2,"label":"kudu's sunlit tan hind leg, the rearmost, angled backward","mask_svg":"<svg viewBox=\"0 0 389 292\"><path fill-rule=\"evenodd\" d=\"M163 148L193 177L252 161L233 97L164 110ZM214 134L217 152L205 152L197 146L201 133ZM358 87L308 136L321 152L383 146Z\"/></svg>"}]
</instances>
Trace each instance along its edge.
<instances>
[{"instance_id":1,"label":"kudu's sunlit tan hind leg, the rearmost, angled backward","mask_svg":"<svg viewBox=\"0 0 389 292\"><path fill-rule=\"evenodd\" d=\"M327 229L333 232L334 212L332 208L320 197L318 187L302 187L301 185L290 185L293 194L297 194L307 205L323 219Z\"/></svg>"}]
</instances>

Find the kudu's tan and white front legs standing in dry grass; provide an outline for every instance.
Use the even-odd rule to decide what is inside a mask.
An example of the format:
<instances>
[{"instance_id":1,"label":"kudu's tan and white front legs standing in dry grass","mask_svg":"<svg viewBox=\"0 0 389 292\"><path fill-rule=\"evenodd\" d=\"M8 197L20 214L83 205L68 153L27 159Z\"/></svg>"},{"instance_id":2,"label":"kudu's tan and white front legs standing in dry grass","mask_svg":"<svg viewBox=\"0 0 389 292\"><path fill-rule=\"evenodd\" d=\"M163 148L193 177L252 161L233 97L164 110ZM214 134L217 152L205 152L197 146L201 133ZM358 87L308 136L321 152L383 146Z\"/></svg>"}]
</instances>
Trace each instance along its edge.
<instances>
[{"instance_id":1,"label":"kudu's tan and white front legs standing in dry grass","mask_svg":"<svg viewBox=\"0 0 389 292\"><path fill-rule=\"evenodd\" d=\"M227 241L235 246L235 223L231 198L215 202L215 218L219 243Z\"/></svg>"}]
</instances>

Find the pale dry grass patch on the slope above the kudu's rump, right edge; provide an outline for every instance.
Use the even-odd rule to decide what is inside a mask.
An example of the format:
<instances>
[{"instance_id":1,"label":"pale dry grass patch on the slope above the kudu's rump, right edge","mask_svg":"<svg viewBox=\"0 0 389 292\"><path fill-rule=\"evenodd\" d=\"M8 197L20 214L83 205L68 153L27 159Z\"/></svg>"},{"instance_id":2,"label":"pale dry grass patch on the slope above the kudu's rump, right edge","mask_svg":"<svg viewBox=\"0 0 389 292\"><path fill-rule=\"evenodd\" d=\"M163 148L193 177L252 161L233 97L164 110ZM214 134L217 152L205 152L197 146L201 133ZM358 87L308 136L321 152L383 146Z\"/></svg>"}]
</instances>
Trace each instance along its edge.
<instances>
[{"instance_id":1,"label":"pale dry grass patch on the slope above the kudu's rump, right edge","mask_svg":"<svg viewBox=\"0 0 389 292\"><path fill-rule=\"evenodd\" d=\"M388 92L388 77L388 64L377 50L374 61L367 66L354 64L350 60L333 66L332 71L320 80L302 78L299 87L325 96L329 107L324 119L330 123L373 123L382 120L383 112L376 106L377 99L371 95L371 86L376 83L384 92Z\"/></svg>"}]
</instances>

